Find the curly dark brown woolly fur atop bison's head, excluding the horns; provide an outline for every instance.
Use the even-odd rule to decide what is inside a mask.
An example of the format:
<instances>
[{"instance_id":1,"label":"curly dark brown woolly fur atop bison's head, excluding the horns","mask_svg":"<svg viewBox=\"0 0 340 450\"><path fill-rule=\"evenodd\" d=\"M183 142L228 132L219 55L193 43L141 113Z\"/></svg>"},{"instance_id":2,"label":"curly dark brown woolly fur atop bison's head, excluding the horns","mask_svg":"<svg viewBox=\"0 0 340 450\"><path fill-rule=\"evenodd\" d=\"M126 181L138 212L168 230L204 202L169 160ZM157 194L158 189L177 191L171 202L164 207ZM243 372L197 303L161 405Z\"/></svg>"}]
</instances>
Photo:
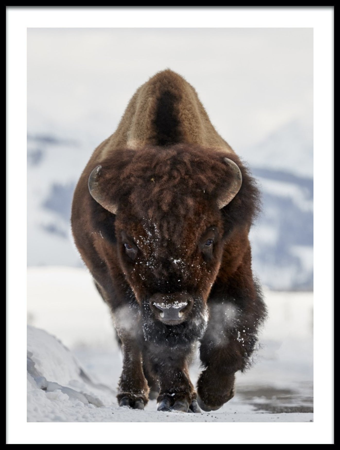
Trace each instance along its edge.
<instances>
[{"instance_id":1,"label":"curly dark brown woolly fur atop bison's head, excluding the horns","mask_svg":"<svg viewBox=\"0 0 340 450\"><path fill-rule=\"evenodd\" d=\"M119 211L128 210L137 220L151 220L164 237L175 238L190 220L206 226L221 222L217 199L234 179L224 157L236 162L243 175L224 220L249 223L256 211L256 187L238 157L223 150L189 144L122 149L119 158L102 162L99 183L107 201L118 204L118 218Z\"/></svg>"}]
</instances>

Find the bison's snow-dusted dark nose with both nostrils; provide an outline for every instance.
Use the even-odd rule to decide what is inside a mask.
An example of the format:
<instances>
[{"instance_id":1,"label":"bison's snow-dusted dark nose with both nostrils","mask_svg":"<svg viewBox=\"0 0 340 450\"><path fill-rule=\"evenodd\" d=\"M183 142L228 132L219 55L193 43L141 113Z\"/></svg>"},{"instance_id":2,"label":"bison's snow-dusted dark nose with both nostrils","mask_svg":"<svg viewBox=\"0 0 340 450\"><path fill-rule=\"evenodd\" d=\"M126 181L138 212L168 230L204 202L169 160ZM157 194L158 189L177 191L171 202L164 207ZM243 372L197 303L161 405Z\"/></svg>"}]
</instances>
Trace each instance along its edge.
<instances>
[{"instance_id":1,"label":"bison's snow-dusted dark nose with both nostrils","mask_svg":"<svg viewBox=\"0 0 340 450\"><path fill-rule=\"evenodd\" d=\"M150 297L151 311L156 319L168 325L184 322L188 318L193 305L193 297L186 292L157 293Z\"/></svg>"}]
</instances>

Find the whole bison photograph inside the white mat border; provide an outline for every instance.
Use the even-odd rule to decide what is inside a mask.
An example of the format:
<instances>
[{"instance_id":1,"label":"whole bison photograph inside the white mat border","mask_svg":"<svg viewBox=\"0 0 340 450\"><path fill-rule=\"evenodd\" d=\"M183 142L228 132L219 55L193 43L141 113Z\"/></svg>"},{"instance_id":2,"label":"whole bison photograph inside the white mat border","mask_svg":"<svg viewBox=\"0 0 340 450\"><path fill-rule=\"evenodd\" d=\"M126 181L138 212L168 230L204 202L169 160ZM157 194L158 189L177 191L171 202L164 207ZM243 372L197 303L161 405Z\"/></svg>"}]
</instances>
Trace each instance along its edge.
<instances>
[{"instance_id":1,"label":"whole bison photograph inside the white mat border","mask_svg":"<svg viewBox=\"0 0 340 450\"><path fill-rule=\"evenodd\" d=\"M312 28L28 28L27 421L313 421L313 175Z\"/></svg>"}]
</instances>

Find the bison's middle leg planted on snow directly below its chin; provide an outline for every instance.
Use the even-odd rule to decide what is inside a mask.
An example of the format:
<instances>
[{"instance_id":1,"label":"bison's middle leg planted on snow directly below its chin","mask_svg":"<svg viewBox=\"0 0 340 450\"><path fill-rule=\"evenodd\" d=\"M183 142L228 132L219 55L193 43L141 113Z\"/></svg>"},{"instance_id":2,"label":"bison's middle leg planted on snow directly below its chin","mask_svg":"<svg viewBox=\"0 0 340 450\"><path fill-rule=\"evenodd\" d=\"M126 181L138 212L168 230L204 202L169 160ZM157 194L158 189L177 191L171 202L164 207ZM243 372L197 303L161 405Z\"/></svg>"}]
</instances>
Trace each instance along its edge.
<instances>
[{"instance_id":1,"label":"bison's middle leg planted on snow directly below its chin","mask_svg":"<svg viewBox=\"0 0 340 450\"><path fill-rule=\"evenodd\" d=\"M189 353L189 348L150 348L149 364L159 381L158 411L200 412L189 378L186 361Z\"/></svg>"}]
</instances>

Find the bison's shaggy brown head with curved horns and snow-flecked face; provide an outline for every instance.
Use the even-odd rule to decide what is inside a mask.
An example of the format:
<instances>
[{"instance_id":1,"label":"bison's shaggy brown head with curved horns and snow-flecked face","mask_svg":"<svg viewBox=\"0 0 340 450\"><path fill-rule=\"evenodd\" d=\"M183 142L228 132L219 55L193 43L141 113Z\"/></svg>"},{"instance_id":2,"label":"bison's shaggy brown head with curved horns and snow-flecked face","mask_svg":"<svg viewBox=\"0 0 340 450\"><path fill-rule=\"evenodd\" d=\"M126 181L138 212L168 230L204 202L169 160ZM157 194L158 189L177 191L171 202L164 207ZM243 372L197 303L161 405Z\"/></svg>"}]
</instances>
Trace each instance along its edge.
<instances>
[{"instance_id":1,"label":"bison's shaggy brown head with curved horns and snow-flecked face","mask_svg":"<svg viewBox=\"0 0 340 450\"><path fill-rule=\"evenodd\" d=\"M193 341L204 332L240 204L240 162L231 157L188 145L125 149L89 176L89 192L106 210L99 231L111 242L110 258L136 297L149 340Z\"/></svg>"}]
</instances>

